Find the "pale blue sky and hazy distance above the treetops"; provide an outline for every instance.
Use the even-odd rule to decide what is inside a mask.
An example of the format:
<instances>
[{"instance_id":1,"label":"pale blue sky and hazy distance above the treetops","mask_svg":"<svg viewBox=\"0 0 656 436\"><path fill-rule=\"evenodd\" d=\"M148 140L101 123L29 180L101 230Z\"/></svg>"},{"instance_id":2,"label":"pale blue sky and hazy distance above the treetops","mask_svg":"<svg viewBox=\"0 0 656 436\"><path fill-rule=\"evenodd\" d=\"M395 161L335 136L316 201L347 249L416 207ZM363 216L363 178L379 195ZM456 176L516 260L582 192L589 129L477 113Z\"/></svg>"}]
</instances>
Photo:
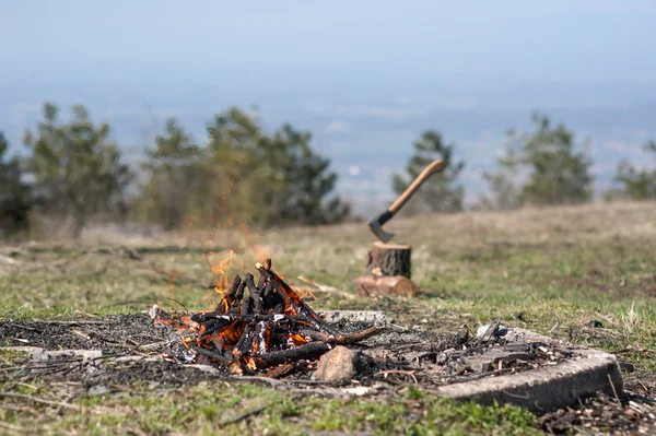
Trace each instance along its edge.
<instances>
[{"instance_id":1,"label":"pale blue sky and hazy distance above the treetops","mask_svg":"<svg viewBox=\"0 0 656 436\"><path fill-rule=\"evenodd\" d=\"M0 129L16 143L49 98L86 104L137 143L152 114L202 132L220 106L254 104L316 131L358 190L427 127L481 169L508 123L542 107L597 135L600 156L639 158L656 135L655 21L653 0L3 1ZM355 144L395 162L353 175L367 164Z\"/></svg>"}]
</instances>

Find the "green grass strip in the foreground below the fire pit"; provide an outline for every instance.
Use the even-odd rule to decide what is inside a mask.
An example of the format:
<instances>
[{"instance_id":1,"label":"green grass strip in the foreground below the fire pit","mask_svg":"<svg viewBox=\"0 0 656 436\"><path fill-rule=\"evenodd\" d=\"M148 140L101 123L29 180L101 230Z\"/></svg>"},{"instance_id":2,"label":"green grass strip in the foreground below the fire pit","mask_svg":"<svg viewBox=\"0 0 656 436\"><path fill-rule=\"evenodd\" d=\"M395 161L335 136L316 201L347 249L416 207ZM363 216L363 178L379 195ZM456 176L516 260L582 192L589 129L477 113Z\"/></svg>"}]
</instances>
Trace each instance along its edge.
<instances>
[{"instance_id":1,"label":"green grass strip in the foreground below the fire pit","mask_svg":"<svg viewBox=\"0 0 656 436\"><path fill-rule=\"evenodd\" d=\"M14 389L34 397L43 391L43 386ZM201 382L164 391L131 387L120 394L82 396L73 404L78 409L61 416L56 415L55 406L30 404L32 420L25 420L27 411L0 410L0 420L10 429L42 434L538 434L535 416L519 408L456 404L413 387L402 389L393 399L372 401L283 394L243 382ZM258 412L238 420L251 411Z\"/></svg>"}]
</instances>

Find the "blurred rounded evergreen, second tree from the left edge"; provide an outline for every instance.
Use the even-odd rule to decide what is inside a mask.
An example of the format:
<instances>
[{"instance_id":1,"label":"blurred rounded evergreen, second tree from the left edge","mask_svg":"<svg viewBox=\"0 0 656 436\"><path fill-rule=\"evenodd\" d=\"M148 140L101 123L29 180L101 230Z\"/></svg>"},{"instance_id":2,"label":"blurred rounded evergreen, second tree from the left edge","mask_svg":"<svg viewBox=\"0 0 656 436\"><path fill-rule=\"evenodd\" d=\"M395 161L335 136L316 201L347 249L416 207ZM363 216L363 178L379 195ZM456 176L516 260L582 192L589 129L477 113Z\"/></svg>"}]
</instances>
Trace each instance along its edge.
<instances>
[{"instance_id":1,"label":"blurred rounded evergreen, second tree from the left edge","mask_svg":"<svg viewBox=\"0 0 656 436\"><path fill-rule=\"evenodd\" d=\"M66 213L78 238L89 219L99 213L125 212L124 193L132 179L109 140L107 123L94 125L84 106L73 106L73 119L59 122L54 104L44 105L44 120L25 132L32 151L27 169L44 196L49 213Z\"/></svg>"}]
</instances>

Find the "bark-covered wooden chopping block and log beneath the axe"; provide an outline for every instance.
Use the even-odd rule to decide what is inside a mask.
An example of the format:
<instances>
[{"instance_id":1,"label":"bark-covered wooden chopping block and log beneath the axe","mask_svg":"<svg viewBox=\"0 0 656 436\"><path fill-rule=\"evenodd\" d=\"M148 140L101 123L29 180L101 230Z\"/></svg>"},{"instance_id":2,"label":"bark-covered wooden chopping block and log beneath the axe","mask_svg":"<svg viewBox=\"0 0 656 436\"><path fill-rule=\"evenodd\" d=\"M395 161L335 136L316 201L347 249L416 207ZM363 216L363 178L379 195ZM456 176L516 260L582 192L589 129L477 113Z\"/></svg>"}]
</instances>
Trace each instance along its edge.
<instances>
[{"instance_id":1,"label":"bark-covered wooden chopping block and log beneath the axe","mask_svg":"<svg viewBox=\"0 0 656 436\"><path fill-rule=\"evenodd\" d=\"M409 245L375 241L363 274L355 279L355 292L371 297L413 297L417 285L411 280L411 257L412 247Z\"/></svg>"}]
</instances>

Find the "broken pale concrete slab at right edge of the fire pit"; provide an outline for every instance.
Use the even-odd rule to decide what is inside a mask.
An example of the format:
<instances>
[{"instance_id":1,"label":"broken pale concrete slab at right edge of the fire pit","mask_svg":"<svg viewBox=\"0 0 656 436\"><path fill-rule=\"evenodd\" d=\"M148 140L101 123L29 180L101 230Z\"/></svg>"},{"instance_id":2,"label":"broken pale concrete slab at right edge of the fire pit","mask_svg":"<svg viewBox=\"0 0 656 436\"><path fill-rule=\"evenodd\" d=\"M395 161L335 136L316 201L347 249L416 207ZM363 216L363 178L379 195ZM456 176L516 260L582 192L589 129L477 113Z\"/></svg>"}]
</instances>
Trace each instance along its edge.
<instances>
[{"instance_id":1,"label":"broken pale concrete slab at right edge of the fire pit","mask_svg":"<svg viewBox=\"0 0 656 436\"><path fill-rule=\"evenodd\" d=\"M576 346L523 329L508 329L512 342L558 344L573 353L572 358L518 374L500 375L442 386L440 394L455 400L475 400L491 405L512 403L534 413L544 413L578 403L597 392L620 393L624 387L618 360L610 353Z\"/></svg>"}]
</instances>

